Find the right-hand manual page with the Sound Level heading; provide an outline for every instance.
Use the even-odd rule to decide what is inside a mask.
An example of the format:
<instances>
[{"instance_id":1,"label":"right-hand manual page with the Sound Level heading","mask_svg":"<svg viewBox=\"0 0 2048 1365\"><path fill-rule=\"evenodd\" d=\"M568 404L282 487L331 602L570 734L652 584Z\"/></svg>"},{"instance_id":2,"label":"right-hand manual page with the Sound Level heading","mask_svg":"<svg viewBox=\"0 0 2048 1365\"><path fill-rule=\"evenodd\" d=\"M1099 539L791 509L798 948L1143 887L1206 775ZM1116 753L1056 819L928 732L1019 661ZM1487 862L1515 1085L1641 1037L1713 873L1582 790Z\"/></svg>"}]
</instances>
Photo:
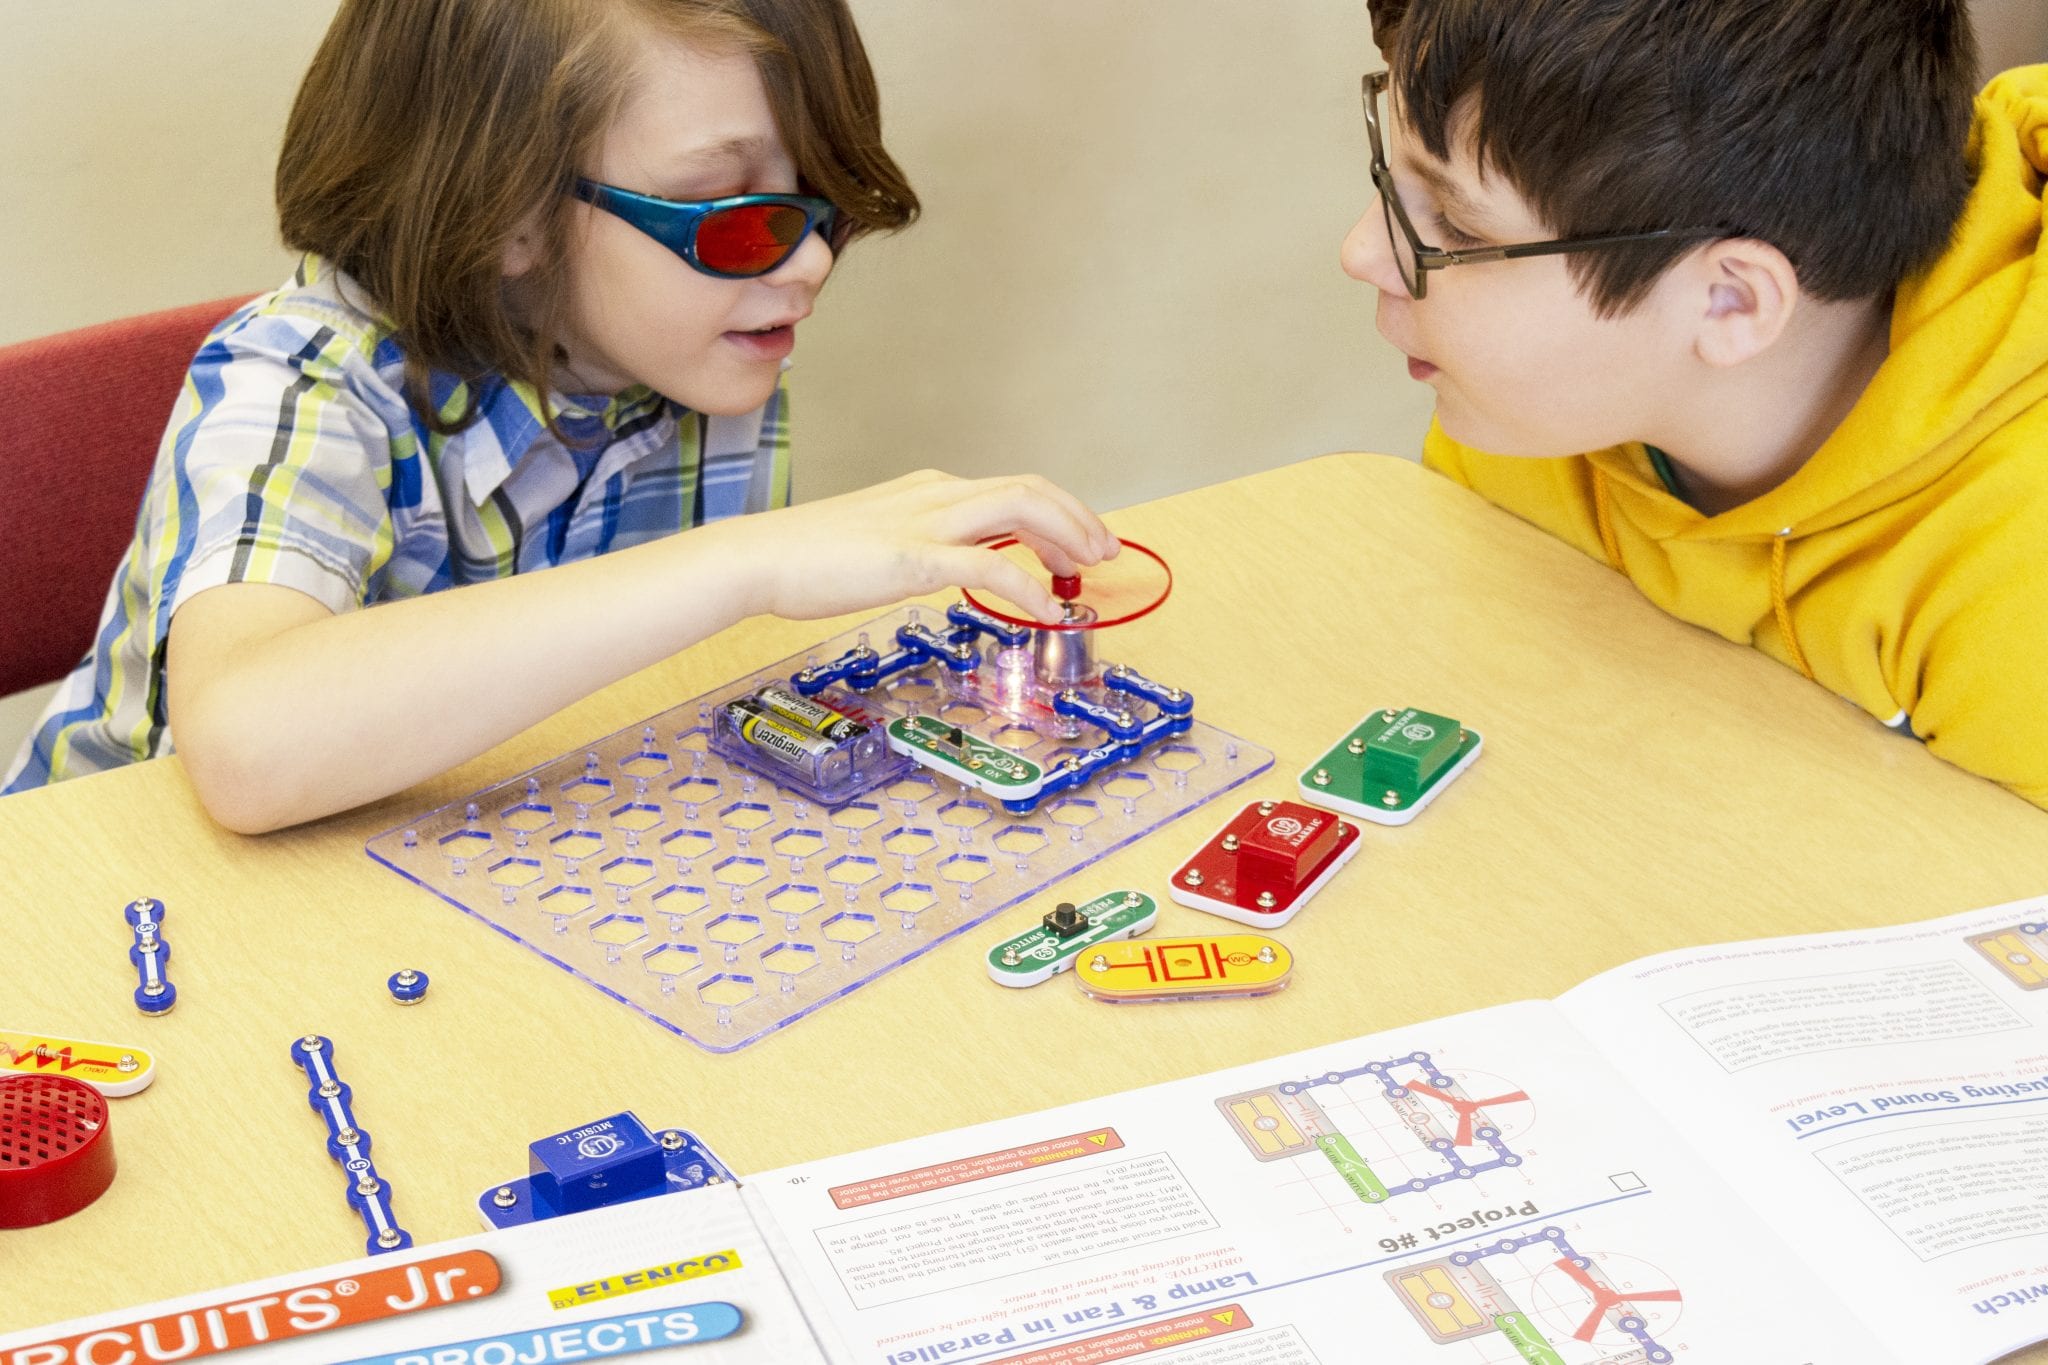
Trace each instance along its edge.
<instances>
[{"instance_id":1,"label":"right-hand manual page with the Sound Level heading","mask_svg":"<svg viewBox=\"0 0 2048 1365\"><path fill-rule=\"evenodd\" d=\"M1894 1351L2048 1336L2048 898L1663 954L1559 1007Z\"/></svg>"}]
</instances>

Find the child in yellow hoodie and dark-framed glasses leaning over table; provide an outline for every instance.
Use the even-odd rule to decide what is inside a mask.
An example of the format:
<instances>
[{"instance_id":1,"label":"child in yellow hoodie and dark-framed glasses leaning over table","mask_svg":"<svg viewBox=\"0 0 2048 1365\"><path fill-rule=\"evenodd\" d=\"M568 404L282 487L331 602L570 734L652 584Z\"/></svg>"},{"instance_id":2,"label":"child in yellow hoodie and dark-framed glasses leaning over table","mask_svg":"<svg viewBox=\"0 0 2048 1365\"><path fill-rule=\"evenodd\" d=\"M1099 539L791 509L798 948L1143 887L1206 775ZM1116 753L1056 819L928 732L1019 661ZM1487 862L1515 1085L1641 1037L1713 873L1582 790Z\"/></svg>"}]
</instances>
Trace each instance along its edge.
<instances>
[{"instance_id":1,"label":"child in yellow hoodie and dark-framed glasses leaning over table","mask_svg":"<svg viewBox=\"0 0 2048 1365\"><path fill-rule=\"evenodd\" d=\"M2048 65L1964 0L1372 0L1425 463L2048 806Z\"/></svg>"}]
</instances>

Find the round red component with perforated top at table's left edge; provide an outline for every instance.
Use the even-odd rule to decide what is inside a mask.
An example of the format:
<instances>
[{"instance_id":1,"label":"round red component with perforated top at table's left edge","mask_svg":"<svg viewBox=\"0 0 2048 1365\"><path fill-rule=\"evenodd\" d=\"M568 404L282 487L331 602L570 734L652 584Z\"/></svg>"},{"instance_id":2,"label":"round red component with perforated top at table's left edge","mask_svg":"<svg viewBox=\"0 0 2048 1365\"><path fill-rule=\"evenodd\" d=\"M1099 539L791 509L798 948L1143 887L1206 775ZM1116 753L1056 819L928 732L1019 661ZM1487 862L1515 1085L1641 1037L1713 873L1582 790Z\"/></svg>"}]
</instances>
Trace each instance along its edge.
<instances>
[{"instance_id":1,"label":"round red component with perforated top at table's left edge","mask_svg":"<svg viewBox=\"0 0 2048 1365\"><path fill-rule=\"evenodd\" d=\"M70 1076L0 1076L0 1228L70 1218L113 1181L106 1097Z\"/></svg>"}]
</instances>

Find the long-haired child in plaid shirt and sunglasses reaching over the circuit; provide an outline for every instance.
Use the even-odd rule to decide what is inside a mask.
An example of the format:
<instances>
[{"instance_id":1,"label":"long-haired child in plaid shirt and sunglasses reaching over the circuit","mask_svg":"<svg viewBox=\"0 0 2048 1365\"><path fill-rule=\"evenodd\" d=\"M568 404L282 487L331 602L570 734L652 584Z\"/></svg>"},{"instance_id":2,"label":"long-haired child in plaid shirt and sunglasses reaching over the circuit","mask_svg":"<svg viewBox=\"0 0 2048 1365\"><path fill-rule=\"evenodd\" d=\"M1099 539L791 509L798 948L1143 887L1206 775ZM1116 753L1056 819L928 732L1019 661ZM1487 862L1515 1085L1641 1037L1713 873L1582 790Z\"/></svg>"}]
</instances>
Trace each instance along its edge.
<instances>
[{"instance_id":1,"label":"long-haired child in plaid shirt and sunglasses reaching over the circuit","mask_svg":"<svg viewBox=\"0 0 2048 1365\"><path fill-rule=\"evenodd\" d=\"M276 188L305 260L195 358L6 790L174 726L207 810L274 829L743 616L958 585L1057 618L979 542L1116 551L1034 477L784 505L795 327L918 211L844 0L344 0Z\"/></svg>"}]
</instances>

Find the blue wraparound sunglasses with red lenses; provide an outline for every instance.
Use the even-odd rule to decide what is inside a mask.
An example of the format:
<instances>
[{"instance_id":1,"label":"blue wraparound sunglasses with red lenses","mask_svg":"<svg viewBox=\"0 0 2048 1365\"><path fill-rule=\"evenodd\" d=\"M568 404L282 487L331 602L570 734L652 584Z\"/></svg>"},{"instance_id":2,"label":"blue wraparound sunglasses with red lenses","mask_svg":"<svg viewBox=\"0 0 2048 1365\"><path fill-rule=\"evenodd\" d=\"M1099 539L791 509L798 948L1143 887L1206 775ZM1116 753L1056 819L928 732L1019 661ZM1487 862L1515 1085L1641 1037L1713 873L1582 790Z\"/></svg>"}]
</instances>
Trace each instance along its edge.
<instances>
[{"instance_id":1,"label":"blue wraparound sunglasses with red lenses","mask_svg":"<svg viewBox=\"0 0 2048 1365\"><path fill-rule=\"evenodd\" d=\"M721 280L752 280L778 268L815 229L834 248L840 211L815 194L733 194L729 199L655 199L614 184L578 180L575 196L625 219Z\"/></svg>"}]
</instances>

